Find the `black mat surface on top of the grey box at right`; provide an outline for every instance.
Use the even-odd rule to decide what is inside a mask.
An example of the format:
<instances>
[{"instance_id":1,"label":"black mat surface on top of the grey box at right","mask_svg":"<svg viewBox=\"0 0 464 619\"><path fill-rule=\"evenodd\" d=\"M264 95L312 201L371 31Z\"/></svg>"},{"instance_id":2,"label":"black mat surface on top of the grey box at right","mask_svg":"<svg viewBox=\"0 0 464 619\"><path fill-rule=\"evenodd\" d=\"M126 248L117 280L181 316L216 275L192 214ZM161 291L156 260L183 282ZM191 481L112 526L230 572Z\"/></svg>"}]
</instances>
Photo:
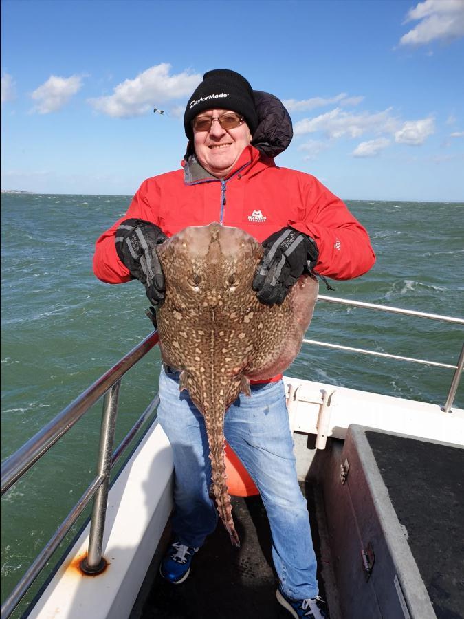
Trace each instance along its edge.
<instances>
[{"instance_id":1,"label":"black mat surface on top of the grey box at right","mask_svg":"<svg viewBox=\"0 0 464 619\"><path fill-rule=\"evenodd\" d=\"M438 619L464 617L464 450L366 432Z\"/></svg>"}]
</instances>

